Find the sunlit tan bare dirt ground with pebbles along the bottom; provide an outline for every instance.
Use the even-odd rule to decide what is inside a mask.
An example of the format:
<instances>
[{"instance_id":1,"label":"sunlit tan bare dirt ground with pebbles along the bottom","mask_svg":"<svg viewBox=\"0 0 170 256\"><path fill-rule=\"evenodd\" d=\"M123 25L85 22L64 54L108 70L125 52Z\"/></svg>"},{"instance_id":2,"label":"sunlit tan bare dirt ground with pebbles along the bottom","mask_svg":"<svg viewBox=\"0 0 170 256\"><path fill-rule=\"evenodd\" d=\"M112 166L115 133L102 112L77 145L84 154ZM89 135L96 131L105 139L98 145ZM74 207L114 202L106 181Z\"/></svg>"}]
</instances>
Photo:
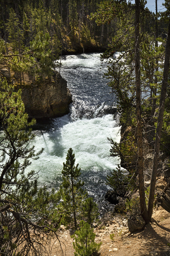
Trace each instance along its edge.
<instances>
[{"instance_id":1,"label":"sunlit tan bare dirt ground with pebbles along the bottom","mask_svg":"<svg viewBox=\"0 0 170 256\"><path fill-rule=\"evenodd\" d=\"M127 233L126 220L120 216L108 220L102 229L94 228L95 241L102 242L100 256L170 256L170 247L167 245L170 243L170 213L159 207L158 210L154 210L152 217L152 223L147 224L143 231L134 234ZM110 239L112 233L114 241ZM71 234L73 231L69 230L58 232L66 256L74 256ZM58 242L54 244L52 256L61 255L58 245Z\"/></svg>"}]
</instances>

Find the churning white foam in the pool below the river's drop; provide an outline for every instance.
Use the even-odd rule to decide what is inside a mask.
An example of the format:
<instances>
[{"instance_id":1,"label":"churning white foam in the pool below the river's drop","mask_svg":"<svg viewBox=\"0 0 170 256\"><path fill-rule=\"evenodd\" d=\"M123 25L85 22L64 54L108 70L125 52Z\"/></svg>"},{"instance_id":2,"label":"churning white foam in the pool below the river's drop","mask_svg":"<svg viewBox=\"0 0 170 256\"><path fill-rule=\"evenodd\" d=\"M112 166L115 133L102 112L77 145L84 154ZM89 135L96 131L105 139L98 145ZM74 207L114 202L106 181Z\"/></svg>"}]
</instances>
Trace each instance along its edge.
<instances>
[{"instance_id":1,"label":"churning white foam in the pool below the river's drop","mask_svg":"<svg viewBox=\"0 0 170 256\"><path fill-rule=\"evenodd\" d=\"M63 162L69 148L75 153L76 164L82 170L98 172L99 170L113 170L119 163L117 158L108 158L110 145L107 137L114 141L120 141L120 127L112 115L93 119L78 119L68 122L67 116L61 117L60 128L53 132L36 136L33 145L37 150L45 148L40 158L33 161L29 167L40 170L39 181L43 183L54 183L57 175L61 175ZM88 177L87 177L88 178Z\"/></svg>"}]
</instances>

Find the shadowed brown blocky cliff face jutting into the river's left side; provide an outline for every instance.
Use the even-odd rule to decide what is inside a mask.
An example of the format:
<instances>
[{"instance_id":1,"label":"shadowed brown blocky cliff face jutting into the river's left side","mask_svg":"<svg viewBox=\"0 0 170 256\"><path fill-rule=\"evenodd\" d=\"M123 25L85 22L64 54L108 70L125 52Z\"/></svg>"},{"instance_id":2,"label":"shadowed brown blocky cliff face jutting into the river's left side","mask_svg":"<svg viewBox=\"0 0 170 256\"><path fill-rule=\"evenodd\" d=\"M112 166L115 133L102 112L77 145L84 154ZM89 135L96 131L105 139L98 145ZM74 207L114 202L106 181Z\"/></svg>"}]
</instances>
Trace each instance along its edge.
<instances>
[{"instance_id":1,"label":"shadowed brown blocky cliff face jutting into the river's left side","mask_svg":"<svg viewBox=\"0 0 170 256\"><path fill-rule=\"evenodd\" d=\"M68 114L72 101L67 81L58 72L52 79L23 86L22 100L30 118L54 118Z\"/></svg>"}]
</instances>

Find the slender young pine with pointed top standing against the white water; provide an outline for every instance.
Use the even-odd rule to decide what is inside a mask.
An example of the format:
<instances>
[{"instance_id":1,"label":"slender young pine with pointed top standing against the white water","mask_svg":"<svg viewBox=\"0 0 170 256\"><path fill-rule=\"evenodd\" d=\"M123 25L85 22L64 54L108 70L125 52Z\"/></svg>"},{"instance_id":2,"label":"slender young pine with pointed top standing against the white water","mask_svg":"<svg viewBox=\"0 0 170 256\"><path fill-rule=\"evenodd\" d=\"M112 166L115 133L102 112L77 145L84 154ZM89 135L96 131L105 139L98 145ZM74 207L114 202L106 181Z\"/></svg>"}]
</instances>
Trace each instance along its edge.
<instances>
[{"instance_id":1,"label":"slender young pine with pointed top standing against the white water","mask_svg":"<svg viewBox=\"0 0 170 256\"><path fill-rule=\"evenodd\" d=\"M74 225L77 227L77 216L80 213L80 206L82 200L87 196L87 193L83 191L82 186L84 182L78 180L80 176L80 168L78 164L75 166L75 154L73 154L72 148L69 148L66 163L63 163L62 179L61 184L62 199L63 202L59 205L59 210L62 212L61 222L65 225L71 222L72 214L74 216Z\"/></svg>"}]
</instances>

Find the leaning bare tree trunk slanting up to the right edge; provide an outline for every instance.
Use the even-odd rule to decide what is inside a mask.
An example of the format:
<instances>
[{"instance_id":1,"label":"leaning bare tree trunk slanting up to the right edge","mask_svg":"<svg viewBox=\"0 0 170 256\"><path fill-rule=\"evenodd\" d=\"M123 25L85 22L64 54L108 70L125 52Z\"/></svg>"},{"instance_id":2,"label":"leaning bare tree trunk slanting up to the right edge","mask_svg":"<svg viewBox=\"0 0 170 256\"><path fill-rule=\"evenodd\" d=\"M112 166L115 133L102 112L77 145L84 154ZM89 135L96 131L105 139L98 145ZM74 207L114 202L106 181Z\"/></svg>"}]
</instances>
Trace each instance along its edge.
<instances>
[{"instance_id":1,"label":"leaning bare tree trunk slanting up to the right edge","mask_svg":"<svg viewBox=\"0 0 170 256\"><path fill-rule=\"evenodd\" d=\"M161 87L160 101L159 101L159 114L158 114L157 129L156 129L150 194L149 194L149 201L148 201L148 216L150 220L152 217L157 168L159 163L159 148L160 148L160 139L161 139L162 124L163 124L163 116L164 116L165 99L166 99L166 88L167 88L167 82L168 82L169 59L170 59L170 20L169 20L169 26L168 26L166 48L165 48L164 72L163 72L162 87Z\"/></svg>"}]
</instances>

